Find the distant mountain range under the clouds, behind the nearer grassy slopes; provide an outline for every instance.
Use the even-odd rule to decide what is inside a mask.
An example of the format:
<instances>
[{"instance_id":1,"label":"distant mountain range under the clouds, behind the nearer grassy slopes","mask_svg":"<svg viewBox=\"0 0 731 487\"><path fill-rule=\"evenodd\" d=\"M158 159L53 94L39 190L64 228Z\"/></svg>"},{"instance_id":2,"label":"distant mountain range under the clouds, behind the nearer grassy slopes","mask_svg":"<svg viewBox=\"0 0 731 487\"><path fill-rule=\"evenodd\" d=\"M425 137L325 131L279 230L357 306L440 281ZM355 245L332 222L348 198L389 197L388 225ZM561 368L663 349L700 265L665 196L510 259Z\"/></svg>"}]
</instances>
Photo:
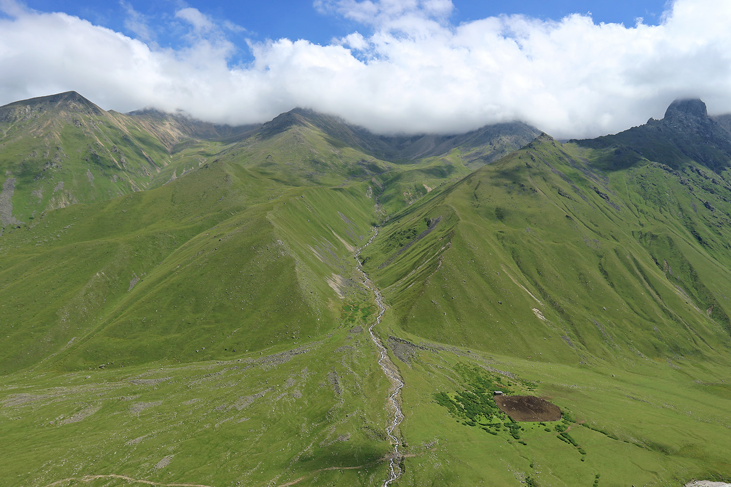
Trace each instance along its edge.
<instances>
[{"instance_id":1,"label":"distant mountain range under the clouds, behind the nearer grassy slopes","mask_svg":"<svg viewBox=\"0 0 731 487\"><path fill-rule=\"evenodd\" d=\"M452 137L382 137L301 109L261 125L221 126L158 110L105 112L69 91L0 107L0 170L13 180L6 191L17 193L15 210L2 212L3 226L44 210L155 188L205 160L205 147L237 150L295 126L388 161L443 156L459 146L471 168L537 135L523 123L504 123Z\"/></svg>"}]
</instances>

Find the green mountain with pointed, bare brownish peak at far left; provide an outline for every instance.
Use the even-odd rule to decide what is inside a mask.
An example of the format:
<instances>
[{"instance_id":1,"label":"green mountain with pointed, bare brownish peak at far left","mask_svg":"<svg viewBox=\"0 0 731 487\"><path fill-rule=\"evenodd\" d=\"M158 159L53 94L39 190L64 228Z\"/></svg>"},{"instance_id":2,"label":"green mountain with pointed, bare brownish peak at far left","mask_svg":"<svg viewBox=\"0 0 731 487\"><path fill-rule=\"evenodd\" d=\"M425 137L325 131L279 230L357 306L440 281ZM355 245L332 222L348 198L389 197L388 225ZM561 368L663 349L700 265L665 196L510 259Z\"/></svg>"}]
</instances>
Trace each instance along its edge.
<instances>
[{"instance_id":1,"label":"green mountain with pointed, bare brownish peak at far left","mask_svg":"<svg viewBox=\"0 0 731 487\"><path fill-rule=\"evenodd\" d=\"M162 184L176 170L166 166L207 160L217 144L202 134L221 135L183 117L105 112L74 91L0 107L2 226Z\"/></svg>"}]
</instances>

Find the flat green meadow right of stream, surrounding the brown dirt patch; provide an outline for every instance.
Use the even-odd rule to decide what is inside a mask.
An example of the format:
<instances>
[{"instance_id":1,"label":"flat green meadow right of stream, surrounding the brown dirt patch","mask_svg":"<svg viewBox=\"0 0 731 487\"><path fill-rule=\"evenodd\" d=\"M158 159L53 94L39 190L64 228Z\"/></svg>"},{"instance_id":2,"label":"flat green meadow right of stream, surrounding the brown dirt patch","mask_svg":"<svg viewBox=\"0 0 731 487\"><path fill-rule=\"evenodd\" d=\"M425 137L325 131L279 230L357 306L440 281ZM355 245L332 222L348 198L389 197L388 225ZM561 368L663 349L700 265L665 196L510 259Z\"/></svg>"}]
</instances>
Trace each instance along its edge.
<instances>
[{"instance_id":1,"label":"flat green meadow right of stream, surrounding the brown dirt patch","mask_svg":"<svg viewBox=\"0 0 731 487\"><path fill-rule=\"evenodd\" d=\"M551 364L409 338L418 348L417 358L400 363L408 384L403 485L518 486L530 478L529 485L588 486L597 474L599 485L613 487L728 481L727 358L637 357L626 368ZM474 382L464 369L500 377L510 394L546 397L564 418L512 423L501 415L487 421L455 417L432 398L463 395L459 391Z\"/></svg>"}]
</instances>

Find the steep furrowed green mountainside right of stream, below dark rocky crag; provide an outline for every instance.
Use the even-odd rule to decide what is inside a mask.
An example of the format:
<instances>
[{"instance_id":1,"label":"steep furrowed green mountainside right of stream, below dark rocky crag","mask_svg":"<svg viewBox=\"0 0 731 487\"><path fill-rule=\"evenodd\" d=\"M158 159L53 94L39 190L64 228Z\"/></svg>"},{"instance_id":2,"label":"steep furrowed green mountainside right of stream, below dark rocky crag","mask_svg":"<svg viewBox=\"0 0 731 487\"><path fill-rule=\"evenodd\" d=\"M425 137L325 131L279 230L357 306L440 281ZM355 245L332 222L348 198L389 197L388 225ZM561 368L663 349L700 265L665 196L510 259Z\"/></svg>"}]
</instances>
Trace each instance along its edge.
<instances>
[{"instance_id":1,"label":"steep furrowed green mountainside right of stream, below dark rocky crag","mask_svg":"<svg viewBox=\"0 0 731 487\"><path fill-rule=\"evenodd\" d=\"M388 222L363 257L401 328L564 363L727 350L727 183L583 159L542 137Z\"/></svg>"}]
</instances>

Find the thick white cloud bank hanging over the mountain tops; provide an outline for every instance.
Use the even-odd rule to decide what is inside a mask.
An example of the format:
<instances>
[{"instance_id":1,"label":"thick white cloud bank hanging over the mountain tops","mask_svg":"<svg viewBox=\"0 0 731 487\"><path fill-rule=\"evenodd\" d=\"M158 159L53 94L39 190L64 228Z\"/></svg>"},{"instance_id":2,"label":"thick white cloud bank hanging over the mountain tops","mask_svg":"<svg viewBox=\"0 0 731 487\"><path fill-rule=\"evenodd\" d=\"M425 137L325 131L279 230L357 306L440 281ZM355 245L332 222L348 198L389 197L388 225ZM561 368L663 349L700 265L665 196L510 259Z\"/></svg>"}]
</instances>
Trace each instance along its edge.
<instances>
[{"instance_id":1,"label":"thick white cloud bank hanging over the mountain tops","mask_svg":"<svg viewBox=\"0 0 731 487\"><path fill-rule=\"evenodd\" d=\"M251 123L294 107L379 132L455 133L524 120L594 137L662 117L678 96L731 112L731 2L675 0L659 26L513 15L453 26L449 0L319 0L362 23L330 45L251 43L230 66L225 26L192 7L188 47L163 49L63 13L1 0L0 104L75 90L106 109L154 106ZM148 35L148 38L151 37Z\"/></svg>"}]
</instances>

